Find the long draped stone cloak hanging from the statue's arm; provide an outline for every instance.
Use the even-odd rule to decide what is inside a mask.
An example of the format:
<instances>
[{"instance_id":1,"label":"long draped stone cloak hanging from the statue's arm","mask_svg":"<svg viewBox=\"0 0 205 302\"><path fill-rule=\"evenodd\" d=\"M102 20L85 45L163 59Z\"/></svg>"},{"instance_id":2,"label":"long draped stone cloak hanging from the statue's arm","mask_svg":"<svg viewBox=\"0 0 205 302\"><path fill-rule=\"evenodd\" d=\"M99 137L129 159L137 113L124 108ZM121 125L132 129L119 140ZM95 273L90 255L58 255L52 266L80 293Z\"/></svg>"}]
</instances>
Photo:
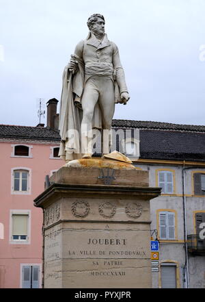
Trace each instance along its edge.
<instances>
[{"instance_id":1,"label":"long draped stone cloak hanging from the statue's arm","mask_svg":"<svg viewBox=\"0 0 205 302\"><path fill-rule=\"evenodd\" d=\"M64 160L76 160L82 157L81 121L83 110L81 109L81 97L85 81L85 66L83 60L77 55L72 55L72 58L78 62L79 68L74 75L69 71L68 66L64 68L59 111L59 134L61 136L59 156ZM94 109L92 128L102 129L102 116L98 103Z\"/></svg>"}]
</instances>

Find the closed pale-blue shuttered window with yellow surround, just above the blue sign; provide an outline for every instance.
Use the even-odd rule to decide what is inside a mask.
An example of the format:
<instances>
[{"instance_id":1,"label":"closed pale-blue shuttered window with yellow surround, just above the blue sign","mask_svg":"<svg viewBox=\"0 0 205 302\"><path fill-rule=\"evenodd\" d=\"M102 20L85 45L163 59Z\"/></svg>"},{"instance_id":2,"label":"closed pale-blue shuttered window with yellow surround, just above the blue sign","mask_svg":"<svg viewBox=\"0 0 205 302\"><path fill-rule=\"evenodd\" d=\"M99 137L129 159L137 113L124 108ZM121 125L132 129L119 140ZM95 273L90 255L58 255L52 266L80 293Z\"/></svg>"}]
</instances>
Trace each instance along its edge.
<instances>
[{"instance_id":1,"label":"closed pale-blue shuttered window with yellow surround, just above the blue sign","mask_svg":"<svg viewBox=\"0 0 205 302\"><path fill-rule=\"evenodd\" d=\"M159 212L159 237L162 240L175 239L175 213Z\"/></svg>"}]
</instances>

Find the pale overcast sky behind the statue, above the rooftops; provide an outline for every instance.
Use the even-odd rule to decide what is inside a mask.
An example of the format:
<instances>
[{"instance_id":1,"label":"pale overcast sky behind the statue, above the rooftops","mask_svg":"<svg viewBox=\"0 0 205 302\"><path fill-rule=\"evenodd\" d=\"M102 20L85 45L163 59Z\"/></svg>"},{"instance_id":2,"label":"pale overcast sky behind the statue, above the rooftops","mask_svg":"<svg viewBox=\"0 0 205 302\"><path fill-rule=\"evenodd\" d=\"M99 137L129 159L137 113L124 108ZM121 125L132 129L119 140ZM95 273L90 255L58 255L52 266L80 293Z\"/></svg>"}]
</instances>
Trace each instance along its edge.
<instances>
[{"instance_id":1,"label":"pale overcast sky behind the statue, above the rooftops","mask_svg":"<svg viewBox=\"0 0 205 302\"><path fill-rule=\"evenodd\" d=\"M36 126L36 99L60 99L94 13L119 47L131 95L114 118L205 125L204 0L0 0L0 123Z\"/></svg>"}]
</instances>

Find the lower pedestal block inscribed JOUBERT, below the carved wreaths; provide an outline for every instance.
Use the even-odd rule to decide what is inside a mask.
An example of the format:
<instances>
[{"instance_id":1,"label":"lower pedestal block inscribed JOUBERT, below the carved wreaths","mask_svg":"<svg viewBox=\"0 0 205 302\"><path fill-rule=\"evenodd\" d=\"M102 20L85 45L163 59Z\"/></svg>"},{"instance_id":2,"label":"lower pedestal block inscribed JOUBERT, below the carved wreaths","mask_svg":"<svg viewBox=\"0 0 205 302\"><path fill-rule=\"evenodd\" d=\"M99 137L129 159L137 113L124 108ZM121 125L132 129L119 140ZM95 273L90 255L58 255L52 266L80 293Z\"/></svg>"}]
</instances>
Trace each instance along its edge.
<instances>
[{"instance_id":1,"label":"lower pedestal block inscribed JOUBERT, below the carved wreaths","mask_svg":"<svg viewBox=\"0 0 205 302\"><path fill-rule=\"evenodd\" d=\"M45 287L151 287L148 225L92 225L60 223L46 229Z\"/></svg>"}]
</instances>

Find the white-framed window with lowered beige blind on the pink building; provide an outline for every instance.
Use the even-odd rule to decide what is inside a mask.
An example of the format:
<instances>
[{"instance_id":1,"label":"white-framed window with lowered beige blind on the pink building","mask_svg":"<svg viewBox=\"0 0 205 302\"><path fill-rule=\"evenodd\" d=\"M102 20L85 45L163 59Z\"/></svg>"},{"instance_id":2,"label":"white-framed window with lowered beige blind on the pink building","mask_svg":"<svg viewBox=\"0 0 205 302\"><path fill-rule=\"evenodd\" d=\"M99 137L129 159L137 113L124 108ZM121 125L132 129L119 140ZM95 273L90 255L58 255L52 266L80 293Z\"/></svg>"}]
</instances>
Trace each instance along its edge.
<instances>
[{"instance_id":1,"label":"white-framed window with lowered beige blind on the pink building","mask_svg":"<svg viewBox=\"0 0 205 302\"><path fill-rule=\"evenodd\" d=\"M12 212L11 229L12 243L27 243L29 241L29 213Z\"/></svg>"}]
</instances>

